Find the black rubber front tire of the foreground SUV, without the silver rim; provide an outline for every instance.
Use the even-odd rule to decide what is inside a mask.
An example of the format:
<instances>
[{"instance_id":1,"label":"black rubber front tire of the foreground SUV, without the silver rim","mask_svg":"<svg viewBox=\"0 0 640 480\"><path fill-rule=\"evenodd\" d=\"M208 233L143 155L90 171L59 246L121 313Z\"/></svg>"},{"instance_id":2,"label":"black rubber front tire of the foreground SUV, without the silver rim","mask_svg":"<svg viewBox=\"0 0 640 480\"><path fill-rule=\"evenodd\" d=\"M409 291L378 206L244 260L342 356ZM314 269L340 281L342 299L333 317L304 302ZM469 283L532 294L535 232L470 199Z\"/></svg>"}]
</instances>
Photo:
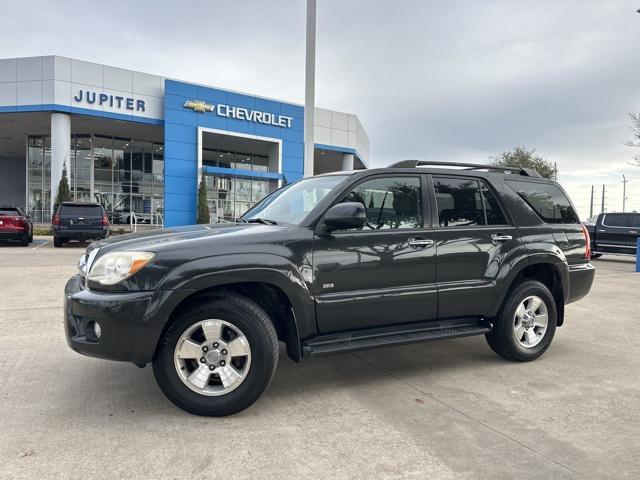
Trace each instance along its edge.
<instances>
[{"instance_id":1,"label":"black rubber front tire of the foreground SUV, without the silver rim","mask_svg":"<svg viewBox=\"0 0 640 480\"><path fill-rule=\"evenodd\" d=\"M176 344L192 325L220 319L242 331L251 349L246 377L234 390L207 396L190 389L174 363ZM181 314L160 339L153 373L160 389L179 408L203 416L233 415L251 406L267 389L278 364L278 336L271 319L255 302L235 293L208 298ZM214 372L215 373L215 372Z\"/></svg>"}]
</instances>

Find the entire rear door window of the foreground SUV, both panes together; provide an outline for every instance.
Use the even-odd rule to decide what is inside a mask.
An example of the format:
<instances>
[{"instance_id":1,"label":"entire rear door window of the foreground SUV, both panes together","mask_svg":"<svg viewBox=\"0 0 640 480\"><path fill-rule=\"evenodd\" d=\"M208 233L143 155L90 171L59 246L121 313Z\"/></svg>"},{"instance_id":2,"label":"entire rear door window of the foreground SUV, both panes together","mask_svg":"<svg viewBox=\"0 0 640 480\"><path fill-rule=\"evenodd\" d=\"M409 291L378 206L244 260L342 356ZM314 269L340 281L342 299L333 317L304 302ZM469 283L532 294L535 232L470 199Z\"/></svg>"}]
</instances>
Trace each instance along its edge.
<instances>
[{"instance_id":1,"label":"entire rear door window of the foreground SUV, both panes together","mask_svg":"<svg viewBox=\"0 0 640 480\"><path fill-rule=\"evenodd\" d=\"M471 178L433 178L441 227L506 225L493 191Z\"/></svg>"}]
</instances>

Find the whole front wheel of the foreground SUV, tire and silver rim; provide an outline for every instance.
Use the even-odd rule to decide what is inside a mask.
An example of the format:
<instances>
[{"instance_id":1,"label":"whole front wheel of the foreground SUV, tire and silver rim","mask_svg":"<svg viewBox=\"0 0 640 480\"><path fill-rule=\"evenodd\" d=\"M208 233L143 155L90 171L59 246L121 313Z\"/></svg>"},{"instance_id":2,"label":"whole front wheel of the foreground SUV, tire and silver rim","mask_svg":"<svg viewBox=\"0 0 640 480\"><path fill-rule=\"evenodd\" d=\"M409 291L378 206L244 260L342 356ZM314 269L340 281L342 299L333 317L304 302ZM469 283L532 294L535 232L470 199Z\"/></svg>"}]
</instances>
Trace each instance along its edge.
<instances>
[{"instance_id":1,"label":"whole front wheel of the foreground SUV, tire and silver rim","mask_svg":"<svg viewBox=\"0 0 640 480\"><path fill-rule=\"evenodd\" d=\"M160 341L153 372L175 405L217 417L253 404L277 363L278 337L269 316L248 298L226 293L176 319Z\"/></svg>"}]
</instances>

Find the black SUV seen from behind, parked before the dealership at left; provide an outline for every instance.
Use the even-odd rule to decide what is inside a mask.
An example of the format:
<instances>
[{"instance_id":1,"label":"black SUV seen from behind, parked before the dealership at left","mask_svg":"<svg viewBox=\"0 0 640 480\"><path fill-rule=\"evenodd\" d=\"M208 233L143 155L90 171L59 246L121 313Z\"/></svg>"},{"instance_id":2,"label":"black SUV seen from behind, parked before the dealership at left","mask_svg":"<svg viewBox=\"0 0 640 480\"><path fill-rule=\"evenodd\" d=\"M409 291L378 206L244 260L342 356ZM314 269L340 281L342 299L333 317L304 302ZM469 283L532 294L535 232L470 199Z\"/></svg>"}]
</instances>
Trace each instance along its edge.
<instances>
[{"instance_id":1,"label":"black SUV seen from behind, parked before the dealership at left","mask_svg":"<svg viewBox=\"0 0 640 480\"><path fill-rule=\"evenodd\" d=\"M61 203L51 227L55 247L62 247L69 240L100 240L109 236L109 219L99 203Z\"/></svg>"}]
</instances>

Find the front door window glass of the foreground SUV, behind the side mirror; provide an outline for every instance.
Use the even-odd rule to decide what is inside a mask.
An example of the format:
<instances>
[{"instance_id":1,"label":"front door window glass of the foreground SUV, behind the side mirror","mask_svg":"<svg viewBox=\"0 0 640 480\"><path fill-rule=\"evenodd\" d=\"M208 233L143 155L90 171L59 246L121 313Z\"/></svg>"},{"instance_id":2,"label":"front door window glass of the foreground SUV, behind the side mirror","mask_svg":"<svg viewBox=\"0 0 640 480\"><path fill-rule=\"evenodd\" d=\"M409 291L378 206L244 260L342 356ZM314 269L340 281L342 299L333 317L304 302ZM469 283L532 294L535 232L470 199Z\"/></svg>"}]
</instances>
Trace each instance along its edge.
<instances>
[{"instance_id":1,"label":"front door window glass of the foreground SUV, behind the side mirror","mask_svg":"<svg viewBox=\"0 0 640 480\"><path fill-rule=\"evenodd\" d=\"M343 200L360 202L367 210L363 230L422 227L419 177L376 178L355 187Z\"/></svg>"}]
</instances>

